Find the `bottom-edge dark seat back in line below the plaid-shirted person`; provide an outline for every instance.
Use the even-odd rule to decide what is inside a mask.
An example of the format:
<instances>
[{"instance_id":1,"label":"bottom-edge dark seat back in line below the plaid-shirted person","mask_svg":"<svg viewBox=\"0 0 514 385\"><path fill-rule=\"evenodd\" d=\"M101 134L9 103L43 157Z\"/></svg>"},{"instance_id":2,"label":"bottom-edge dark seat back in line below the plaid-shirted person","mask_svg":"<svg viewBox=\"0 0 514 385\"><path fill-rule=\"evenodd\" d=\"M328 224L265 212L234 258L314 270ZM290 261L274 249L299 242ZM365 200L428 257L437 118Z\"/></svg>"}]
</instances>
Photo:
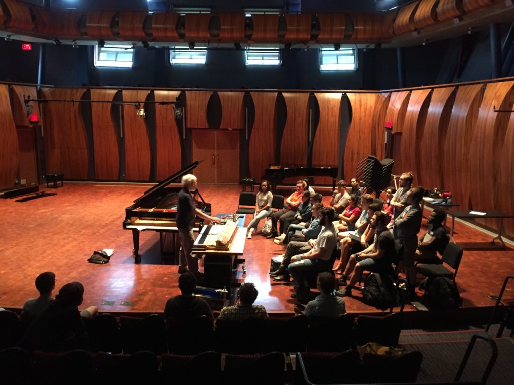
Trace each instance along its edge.
<instances>
[{"instance_id":1,"label":"bottom-edge dark seat back in line below the plaid-shirted person","mask_svg":"<svg viewBox=\"0 0 514 385\"><path fill-rule=\"evenodd\" d=\"M224 384L283 385L285 358L279 352L264 355L233 355L225 357Z\"/></svg>"}]
</instances>

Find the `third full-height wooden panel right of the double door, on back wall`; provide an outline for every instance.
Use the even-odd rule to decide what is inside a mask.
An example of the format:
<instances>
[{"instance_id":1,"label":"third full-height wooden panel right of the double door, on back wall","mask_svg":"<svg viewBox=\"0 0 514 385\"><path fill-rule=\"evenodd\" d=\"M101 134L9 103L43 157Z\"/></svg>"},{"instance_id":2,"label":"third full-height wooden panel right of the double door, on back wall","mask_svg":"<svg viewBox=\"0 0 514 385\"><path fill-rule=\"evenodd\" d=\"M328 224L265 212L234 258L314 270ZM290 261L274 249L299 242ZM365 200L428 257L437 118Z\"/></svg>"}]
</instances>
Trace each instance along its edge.
<instances>
[{"instance_id":1,"label":"third full-height wooden panel right of the double door, on back wall","mask_svg":"<svg viewBox=\"0 0 514 385\"><path fill-rule=\"evenodd\" d=\"M320 120L313 143L314 167L338 167L341 128L341 92L314 94L320 107ZM316 178L315 185L332 184L332 178Z\"/></svg>"}]
</instances>

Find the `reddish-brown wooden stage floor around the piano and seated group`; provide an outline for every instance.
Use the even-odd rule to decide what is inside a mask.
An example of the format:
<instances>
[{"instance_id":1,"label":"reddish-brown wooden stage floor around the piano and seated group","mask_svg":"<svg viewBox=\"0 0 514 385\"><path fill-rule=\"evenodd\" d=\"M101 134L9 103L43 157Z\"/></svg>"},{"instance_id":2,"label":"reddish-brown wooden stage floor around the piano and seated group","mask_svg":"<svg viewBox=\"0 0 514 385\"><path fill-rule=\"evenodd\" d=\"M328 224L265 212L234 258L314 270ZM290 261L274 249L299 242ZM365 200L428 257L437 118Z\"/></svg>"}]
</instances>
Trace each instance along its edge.
<instances>
[{"instance_id":1,"label":"reddish-brown wooden stage floor around the piano and seated group","mask_svg":"<svg viewBox=\"0 0 514 385\"><path fill-rule=\"evenodd\" d=\"M64 187L47 189L57 195L27 202L0 199L0 306L21 308L24 301L38 295L35 277L45 271L57 275L59 287L70 281L85 286L84 303L98 305L101 312L159 313L168 298L179 293L177 266L163 262L159 237L155 232L141 233L141 264L134 264L132 235L122 222L125 207L142 195L149 185L120 185L65 182ZM43 188L42 188L43 189ZM213 214L237 209L241 186L199 185ZM323 201L328 202L329 197ZM250 221L247 216L246 223ZM424 219L424 222L426 219ZM261 223L262 225L262 223ZM464 298L463 307L494 305L487 295L497 295L505 276L514 274L514 249L505 250L489 244L491 237L462 222L455 224L455 240L464 246L464 257L457 284ZM469 249L470 242L473 248ZM478 242L478 243L475 243ZM96 249L114 248L111 262L97 265L87 262ZM244 280L258 287L256 303L269 313L293 313L292 286L275 283L268 276L270 257L283 253L284 247L261 236L247 240ZM506 298L514 297L512 290ZM355 298L346 298L348 312L377 312ZM102 301L114 305L101 305ZM120 302L133 302L130 306ZM406 311L414 308L406 306Z\"/></svg>"}]
</instances>

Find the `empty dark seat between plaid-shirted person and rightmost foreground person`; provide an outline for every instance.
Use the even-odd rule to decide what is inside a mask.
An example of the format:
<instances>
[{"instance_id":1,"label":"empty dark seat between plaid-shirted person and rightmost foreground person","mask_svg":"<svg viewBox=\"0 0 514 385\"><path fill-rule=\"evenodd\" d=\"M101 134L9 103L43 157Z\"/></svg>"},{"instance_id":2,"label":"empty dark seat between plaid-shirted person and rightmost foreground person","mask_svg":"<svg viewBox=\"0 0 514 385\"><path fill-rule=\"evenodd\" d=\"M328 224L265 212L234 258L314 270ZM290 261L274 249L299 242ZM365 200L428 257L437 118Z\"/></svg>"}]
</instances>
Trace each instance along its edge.
<instances>
[{"instance_id":1,"label":"empty dark seat between plaid-shirted person and rightmost foreground person","mask_svg":"<svg viewBox=\"0 0 514 385\"><path fill-rule=\"evenodd\" d=\"M309 320L303 314L265 318L262 321L263 352L304 352L308 331Z\"/></svg>"}]
</instances>

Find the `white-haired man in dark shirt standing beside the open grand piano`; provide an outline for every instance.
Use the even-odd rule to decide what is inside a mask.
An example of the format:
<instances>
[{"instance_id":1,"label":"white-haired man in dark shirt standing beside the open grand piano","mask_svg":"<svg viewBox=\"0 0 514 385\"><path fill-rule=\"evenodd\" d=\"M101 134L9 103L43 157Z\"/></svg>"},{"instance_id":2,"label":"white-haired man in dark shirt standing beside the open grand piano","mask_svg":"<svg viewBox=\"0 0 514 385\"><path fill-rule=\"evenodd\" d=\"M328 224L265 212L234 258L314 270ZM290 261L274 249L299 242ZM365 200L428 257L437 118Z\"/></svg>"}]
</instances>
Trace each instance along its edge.
<instances>
[{"instance_id":1,"label":"white-haired man in dark shirt standing beside the open grand piano","mask_svg":"<svg viewBox=\"0 0 514 385\"><path fill-rule=\"evenodd\" d=\"M178 193L177 205L177 228L180 238L180 252L178 262L178 273L191 272L196 279L203 278L203 274L198 272L198 260L191 255L194 236L193 227L195 216L208 219L213 222L221 222L221 219L211 217L204 211L196 207L192 192L196 191L196 177L188 174L182 177L182 189Z\"/></svg>"}]
</instances>

